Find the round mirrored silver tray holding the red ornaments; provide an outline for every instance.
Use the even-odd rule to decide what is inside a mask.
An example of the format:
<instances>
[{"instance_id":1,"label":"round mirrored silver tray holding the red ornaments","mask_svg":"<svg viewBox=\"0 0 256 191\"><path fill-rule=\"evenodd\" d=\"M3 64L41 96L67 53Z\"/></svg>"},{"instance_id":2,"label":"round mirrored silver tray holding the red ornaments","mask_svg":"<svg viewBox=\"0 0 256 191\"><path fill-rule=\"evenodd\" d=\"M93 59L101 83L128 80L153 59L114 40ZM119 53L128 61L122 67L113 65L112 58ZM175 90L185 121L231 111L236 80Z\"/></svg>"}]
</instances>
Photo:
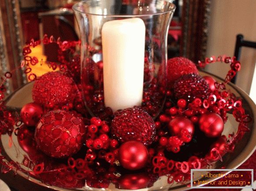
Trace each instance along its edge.
<instances>
[{"instance_id":1,"label":"round mirrored silver tray holding the red ornaments","mask_svg":"<svg viewBox=\"0 0 256 191\"><path fill-rule=\"evenodd\" d=\"M212 76L215 78L217 81L221 82L223 81L217 76L211 75L206 72L200 72L201 76ZM12 110L17 110L19 111L23 105L32 102L32 96L31 96L31 90L33 87L33 83L28 83L25 86L23 86L21 89L15 91L13 94L11 94L9 97L6 99L6 106ZM252 121L249 123L249 133L245 133L245 136L242 138L242 140L239 142L239 144L236 145L236 148L233 153L228 153L224 155L223 157L223 162L216 162L211 168L212 169L220 169L225 167L226 169L236 169L239 167L243 162L245 162L250 155L255 151L256 149L256 105L252 101L252 99L246 94L243 90L241 90L239 87L236 85L229 83L226 85L226 88L231 90L237 97L240 97L243 101L243 106L245 108L245 112L249 114L252 117ZM233 115L229 115L229 118L225 124L225 129L223 131L224 135L228 135L231 132L237 132L237 126L238 123L235 121L233 118ZM0 147L2 148L2 154L6 157L7 161L14 161L18 162L19 164L22 164L22 161L24 157L27 157L30 159L30 156L24 151L19 143L17 136L12 135L12 146L10 147L9 145L9 136L8 135L2 135L1 136L1 141L0 141ZM28 170L28 167L20 165L22 169ZM211 171L211 169L209 169ZM16 170L15 171L19 176L24 177L36 184L39 184L43 187L48 187L52 188L54 190L58 191L69 191L69 189L61 188L61 187L56 187L52 185L45 184L43 180L36 176L31 176L28 175L26 172L22 172L21 170ZM229 173L229 172L226 172ZM200 174L195 174L193 180L200 180L201 176ZM204 179L205 180L205 179ZM210 180L216 180L216 178L210 178ZM168 184L167 183L167 177L162 176L159 177L158 180L153 184L152 187L140 189L141 191L151 191L151 190L187 190L189 187L187 186L190 184L190 181L183 182L183 183L172 183ZM102 189L96 189L96 188L91 188L85 185L82 188L77 188L77 189L72 189L72 190L101 190ZM114 184L110 184L108 188L104 190L120 190L115 187Z\"/></svg>"}]
</instances>

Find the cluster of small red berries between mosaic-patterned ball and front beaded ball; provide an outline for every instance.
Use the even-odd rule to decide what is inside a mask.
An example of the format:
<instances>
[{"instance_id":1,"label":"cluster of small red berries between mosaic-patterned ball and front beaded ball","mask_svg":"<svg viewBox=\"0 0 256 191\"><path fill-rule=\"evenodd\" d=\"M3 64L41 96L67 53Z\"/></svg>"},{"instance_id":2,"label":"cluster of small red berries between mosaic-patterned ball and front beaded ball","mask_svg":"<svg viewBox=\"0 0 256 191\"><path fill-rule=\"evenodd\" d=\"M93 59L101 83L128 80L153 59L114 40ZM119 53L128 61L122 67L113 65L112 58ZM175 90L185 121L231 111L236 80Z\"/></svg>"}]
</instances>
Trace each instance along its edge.
<instances>
[{"instance_id":1,"label":"cluster of small red berries between mosaic-patterned ball and front beaded ball","mask_svg":"<svg viewBox=\"0 0 256 191\"><path fill-rule=\"evenodd\" d=\"M89 163L98 159L105 159L113 164L118 156L119 142L108 136L110 129L106 121L97 117L90 119L88 133L86 134L85 144L88 148L85 159Z\"/></svg>"}]
</instances>

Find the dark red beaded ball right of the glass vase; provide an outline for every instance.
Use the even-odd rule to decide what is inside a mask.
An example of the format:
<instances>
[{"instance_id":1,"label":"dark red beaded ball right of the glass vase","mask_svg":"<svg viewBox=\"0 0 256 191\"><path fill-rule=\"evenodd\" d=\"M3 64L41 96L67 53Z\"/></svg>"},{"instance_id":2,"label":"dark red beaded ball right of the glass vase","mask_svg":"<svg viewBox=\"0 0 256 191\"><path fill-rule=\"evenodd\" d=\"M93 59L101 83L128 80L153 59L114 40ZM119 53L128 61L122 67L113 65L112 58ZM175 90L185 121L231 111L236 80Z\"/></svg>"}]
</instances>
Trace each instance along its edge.
<instances>
[{"instance_id":1,"label":"dark red beaded ball right of the glass vase","mask_svg":"<svg viewBox=\"0 0 256 191\"><path fill-rule=\"evenodd\" d=\"M197 74L186 74L174 83L174 95L188 102L195 98L206 99L211 91L205 79Z\"/></svg>"}]
</instances>

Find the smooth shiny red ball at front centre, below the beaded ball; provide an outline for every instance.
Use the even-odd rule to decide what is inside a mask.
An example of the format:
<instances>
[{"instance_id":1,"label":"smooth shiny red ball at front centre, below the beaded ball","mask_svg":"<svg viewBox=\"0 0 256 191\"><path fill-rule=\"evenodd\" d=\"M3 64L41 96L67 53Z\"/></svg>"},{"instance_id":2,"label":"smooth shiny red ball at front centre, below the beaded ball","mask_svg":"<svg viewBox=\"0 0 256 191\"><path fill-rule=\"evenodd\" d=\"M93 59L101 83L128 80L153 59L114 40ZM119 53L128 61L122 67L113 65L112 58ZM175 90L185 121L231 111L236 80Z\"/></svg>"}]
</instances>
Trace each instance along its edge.
<instances>
[{"instance_id":1,"label":"smooth shiny red ball at front centre, below the beaded ball","mask_svg":"<svg viewBox=\"0 0 256 191\"><path fill-rule=\"evenodd\" d=\"M125 169L142 169L147 161L148 149L139 141L127 141L119 148L119 162Z\"/></svg>"}]
</instances>

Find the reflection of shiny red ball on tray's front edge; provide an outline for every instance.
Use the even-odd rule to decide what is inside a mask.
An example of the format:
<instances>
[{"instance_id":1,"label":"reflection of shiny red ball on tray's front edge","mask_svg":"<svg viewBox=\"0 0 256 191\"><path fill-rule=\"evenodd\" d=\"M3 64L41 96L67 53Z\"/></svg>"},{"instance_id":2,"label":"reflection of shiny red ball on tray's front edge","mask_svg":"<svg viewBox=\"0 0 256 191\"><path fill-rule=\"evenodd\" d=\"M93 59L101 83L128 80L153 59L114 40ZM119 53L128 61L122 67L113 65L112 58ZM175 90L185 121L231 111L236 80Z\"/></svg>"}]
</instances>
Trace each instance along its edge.
<instances>
[{"instance_id":1,"label":"reflection of shiny red ball on tray's front edge","mask_svg":"<svg viewBox=\"0 0 256 191\"><path fill-rule=\"evenodd\" d=\"M126 174L118 180L119 189L137 190L148 187L150 178L146 173Z\"/></svg>"}]
</instances>

